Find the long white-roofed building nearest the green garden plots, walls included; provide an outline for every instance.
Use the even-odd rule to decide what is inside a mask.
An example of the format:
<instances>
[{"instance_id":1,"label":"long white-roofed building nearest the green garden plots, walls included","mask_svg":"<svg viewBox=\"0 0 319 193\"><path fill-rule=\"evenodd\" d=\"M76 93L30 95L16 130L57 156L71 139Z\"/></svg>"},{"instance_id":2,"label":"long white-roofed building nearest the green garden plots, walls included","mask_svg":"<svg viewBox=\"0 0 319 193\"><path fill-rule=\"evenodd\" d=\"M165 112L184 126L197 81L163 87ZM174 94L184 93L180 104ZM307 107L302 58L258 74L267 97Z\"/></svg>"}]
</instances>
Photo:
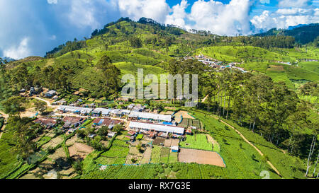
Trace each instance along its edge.
<instances>
[{"instance_id":1,"label":"long white-roofed building nearest the green garden plots, walls included","mask_svg":"<svg viewBox=\"0 0 319 193\"><path fill-rule=\"evenodd\" d=\"M128 125L128 127L132 130L139 130L140 132L147 133L147 131L157 131L162 132L164 134L172 133L177 135L184 135L184 127L166 125L166 124L154 124L147 122L135 122L132 121ZM164 136L164 134L162 134Z\"/></svg>"}]
</instances>

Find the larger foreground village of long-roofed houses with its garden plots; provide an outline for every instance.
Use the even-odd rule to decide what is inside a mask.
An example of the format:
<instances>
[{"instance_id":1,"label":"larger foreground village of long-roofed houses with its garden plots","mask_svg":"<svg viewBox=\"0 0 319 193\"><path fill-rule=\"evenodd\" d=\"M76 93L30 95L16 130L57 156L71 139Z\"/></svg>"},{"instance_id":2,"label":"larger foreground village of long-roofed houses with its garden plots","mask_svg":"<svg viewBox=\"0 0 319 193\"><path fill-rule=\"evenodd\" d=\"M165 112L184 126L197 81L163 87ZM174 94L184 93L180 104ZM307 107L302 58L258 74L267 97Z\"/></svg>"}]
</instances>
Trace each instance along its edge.
<instances>
[{"instance_id":1,"label":"larger foreground village of long-roofed houses with its garden plots","mask_svg":"<svg viewBox=\"0 0 319 193\"><path fill-rule=\"evenodd\" d=\"M94 153L94 146L88 144L88 140L99 139L104 147L111 147L96 159L101 170L109 165L174 162L225 167L223 158L213 151L218 149L217 142L204 133L203 124L186 110L165 107L159 112L138 103L125 103L127 105L121 105L121 108L99 107L94 103L80 105L79 101L67 104L55 90L32 88L21 91L27 98L37 98L50 105L50 114L40 115L37 112L32 116L33 122L45 129L43 135L35 139L40 152L57 148L63 141L62 136L67 136L65 146L69 157L74 160L85 160L86 156ZM99 132L101 128L107 130L103 135ZM121 128L121 131L116 128ZM84 132L88 130L89 133ZM57 134L57 131L62 131L62 134ZM85 136L80 137L79 131L83 131ZM66 159L62 152L62 147L57 148L40 165L39 168L45 171L45 178L52 178L52 175L55 178L59 164L63 165L60 172L65 172L66 178L75 175L67 161L62 161ZM38 152L35 155L40 156ZM31 163L36 161L31 157ZM48 175L52 171L53 174ZM39 170L31 170L25 177L33 178L37 172Z\"/></svg>"}]
</instances>

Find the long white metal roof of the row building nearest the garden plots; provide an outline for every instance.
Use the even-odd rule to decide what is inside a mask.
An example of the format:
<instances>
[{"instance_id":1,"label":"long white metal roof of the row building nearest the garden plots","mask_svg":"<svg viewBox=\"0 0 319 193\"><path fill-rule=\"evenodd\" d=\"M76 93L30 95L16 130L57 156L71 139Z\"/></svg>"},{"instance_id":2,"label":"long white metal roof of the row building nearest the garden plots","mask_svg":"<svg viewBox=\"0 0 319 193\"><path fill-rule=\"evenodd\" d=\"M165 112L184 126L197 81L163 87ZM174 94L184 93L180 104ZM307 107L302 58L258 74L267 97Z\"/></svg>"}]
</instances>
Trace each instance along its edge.
<instances>
[{"instance_id":1,"label":"long white metal roof of the row building nearest the garden plots","mask_svg":"<svg viewBox=\"0 0 319 193\"><path fill-rule=\"evenodd\" d=\"M128 127L138 128L138 129L155 130L155 131L161 131L161 132L171 132L174 134L184 134L183 127L176 127L176 126L165 125L165 124L152 124L152 123L146 123L146 122L130 122Z\"/></svg>"}]
</instances>

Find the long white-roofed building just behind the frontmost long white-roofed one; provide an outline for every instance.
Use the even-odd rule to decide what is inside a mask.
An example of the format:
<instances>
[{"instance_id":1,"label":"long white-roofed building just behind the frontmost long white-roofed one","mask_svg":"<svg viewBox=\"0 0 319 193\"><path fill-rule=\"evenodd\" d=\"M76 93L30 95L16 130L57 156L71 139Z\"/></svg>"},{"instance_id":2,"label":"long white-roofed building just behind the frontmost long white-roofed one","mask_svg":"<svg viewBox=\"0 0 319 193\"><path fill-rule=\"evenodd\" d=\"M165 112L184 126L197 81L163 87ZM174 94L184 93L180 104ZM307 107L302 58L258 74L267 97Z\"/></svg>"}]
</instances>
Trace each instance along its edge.
<instances>
[{"instance_id":1,"label":"long white-roofed building just behind the frontmost long white-roofed one","mask_svg":"<svg viewBox=\"0 0 319 193\"><path fill-rule=\"evenodd\" d=\"M160 115L155 113L149 112L130 112L128 115L129 119L132 120L148 120L148 121L156 121L156 122L172 122L172 115Z\"/></svg>"}]
</instances>

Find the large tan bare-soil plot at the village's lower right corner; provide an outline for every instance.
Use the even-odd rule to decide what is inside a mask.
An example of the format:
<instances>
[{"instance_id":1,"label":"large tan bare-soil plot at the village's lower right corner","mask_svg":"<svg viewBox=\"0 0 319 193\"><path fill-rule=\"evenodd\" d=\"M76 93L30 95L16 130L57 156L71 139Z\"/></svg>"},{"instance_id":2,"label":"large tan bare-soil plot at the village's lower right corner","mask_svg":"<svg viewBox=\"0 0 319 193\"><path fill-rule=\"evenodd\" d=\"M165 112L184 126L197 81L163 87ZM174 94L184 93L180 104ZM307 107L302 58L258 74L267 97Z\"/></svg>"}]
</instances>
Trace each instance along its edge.
<instances>
[{"instance_id":1,"label":"large tan bare-soil plot at the village's lower right corner","mask_svg":"<svg viewBox=\"0 0 319 193\"><path fill-rule=\"evenodd\" d=\"M202 151L189 148L181 148L179 161L183 163L198 163L216 165L225 168L223 159L213 151Z\"/></svg>"}]
</instances>

